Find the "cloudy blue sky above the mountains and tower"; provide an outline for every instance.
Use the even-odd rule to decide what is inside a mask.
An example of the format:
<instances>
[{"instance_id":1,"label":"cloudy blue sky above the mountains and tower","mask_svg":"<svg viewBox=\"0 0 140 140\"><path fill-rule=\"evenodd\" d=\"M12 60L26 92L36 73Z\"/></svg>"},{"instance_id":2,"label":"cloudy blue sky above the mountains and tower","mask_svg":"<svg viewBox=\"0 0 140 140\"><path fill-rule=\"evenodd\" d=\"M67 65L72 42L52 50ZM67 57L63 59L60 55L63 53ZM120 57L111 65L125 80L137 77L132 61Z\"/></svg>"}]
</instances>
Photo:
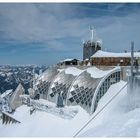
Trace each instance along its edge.
<instances>
[{"instance_id":1,"label":"cloudy blue sky above the mountains and tower","mask_svg":"<svg viewBox=\"0 0 140 140\"><path fill-rule=\"evenodd\" d=\"M140 50L140 4L0 3L0 64L52 65L82 59L89 26L102 39L102 50Z\"/></svg>"}]
</instances>

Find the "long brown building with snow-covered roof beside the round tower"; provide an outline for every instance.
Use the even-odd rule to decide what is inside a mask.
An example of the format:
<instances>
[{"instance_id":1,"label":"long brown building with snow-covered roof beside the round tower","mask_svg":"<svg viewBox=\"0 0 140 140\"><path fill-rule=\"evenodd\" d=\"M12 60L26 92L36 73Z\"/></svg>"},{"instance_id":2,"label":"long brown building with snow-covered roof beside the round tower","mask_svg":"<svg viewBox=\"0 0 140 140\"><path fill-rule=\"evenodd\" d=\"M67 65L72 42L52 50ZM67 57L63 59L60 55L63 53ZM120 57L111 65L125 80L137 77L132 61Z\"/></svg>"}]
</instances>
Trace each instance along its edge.
<instances>
[{"instance_id":1,"label":"long brown building with snow-covered roof beside the round tower","mask_svg":"<svg viewBox=\"0 0 140 140\"><path fill-rule=\"evenodd\" d=\"M135 52L134 57L138 59L140 64L140 52ZM99 50L93 54L88 61L95 66L129 66L131 62L131 52L115 53Z\"/></svg>"}]
</instances>

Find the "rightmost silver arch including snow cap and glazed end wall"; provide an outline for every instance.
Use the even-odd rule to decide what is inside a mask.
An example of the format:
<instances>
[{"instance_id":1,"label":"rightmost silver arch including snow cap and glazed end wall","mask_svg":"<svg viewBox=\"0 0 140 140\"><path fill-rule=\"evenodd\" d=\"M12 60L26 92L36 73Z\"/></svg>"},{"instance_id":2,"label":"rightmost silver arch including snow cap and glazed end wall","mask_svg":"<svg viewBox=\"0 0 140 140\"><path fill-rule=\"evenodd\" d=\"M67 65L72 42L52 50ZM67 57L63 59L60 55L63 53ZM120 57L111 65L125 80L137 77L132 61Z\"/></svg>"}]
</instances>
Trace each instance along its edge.
<instances>
[{"instance_id":1,"label":"rightmost silver arch including snow cap and glazed end wall","mask_svg":"<svg viewBox=\"0 0 140 140\"><path fill-rule=\"evenodd\" d=\"M68 105L80 105L92 114L100 98L110 85L120 81L120 68L100 70L96 67L87 68L72 83L68 93Z\"/></svg>"}]
</instances>

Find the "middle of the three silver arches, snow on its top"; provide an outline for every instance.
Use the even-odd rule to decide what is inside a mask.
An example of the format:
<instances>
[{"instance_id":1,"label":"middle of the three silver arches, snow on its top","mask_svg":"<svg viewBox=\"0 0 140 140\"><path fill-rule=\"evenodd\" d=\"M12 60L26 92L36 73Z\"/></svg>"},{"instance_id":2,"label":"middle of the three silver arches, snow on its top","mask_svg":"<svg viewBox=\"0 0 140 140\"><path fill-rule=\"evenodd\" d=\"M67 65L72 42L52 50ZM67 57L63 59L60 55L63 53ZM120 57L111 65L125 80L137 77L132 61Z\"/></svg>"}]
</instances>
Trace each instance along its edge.
<instances>
[{"instance_id":1,"label":"middle of the three silver arches, snow on its top","mask_svg":"<svg viewBox=\"0 0 140 140\"><path fill-rule=\"evenodd\" d=\"M82 72L82 70L75 67L68 67L61 70L61 72L55 77L50 85L48 100L56 102L58 95L61 93L64 102L67 100L68 89L71 86L73 80Z\"/></svg>"}]
</instances>

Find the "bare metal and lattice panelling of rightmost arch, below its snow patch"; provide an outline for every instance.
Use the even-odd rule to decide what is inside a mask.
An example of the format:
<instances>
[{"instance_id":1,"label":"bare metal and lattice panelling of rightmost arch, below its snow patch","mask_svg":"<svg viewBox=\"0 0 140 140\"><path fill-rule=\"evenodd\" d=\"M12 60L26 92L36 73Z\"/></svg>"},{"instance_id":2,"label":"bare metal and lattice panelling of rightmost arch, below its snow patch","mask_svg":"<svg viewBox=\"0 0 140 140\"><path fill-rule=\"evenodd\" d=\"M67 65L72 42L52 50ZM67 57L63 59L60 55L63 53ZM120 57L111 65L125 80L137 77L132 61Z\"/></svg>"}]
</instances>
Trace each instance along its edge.
<instances>
[{"instance_id":1,"label":"bare metal and lattice panelling of rightmost arch, below its snow patch","mask_svg":"<svg viewBox=\"0 0 140 140\"><path fill-rule=\"evenodd\" d=\"M101 78L93 78L90 73L84 71L76 78L69 90L68 105L79 104L90 112L93 94L100 80Z\"/></svg>"}]
</instances>

